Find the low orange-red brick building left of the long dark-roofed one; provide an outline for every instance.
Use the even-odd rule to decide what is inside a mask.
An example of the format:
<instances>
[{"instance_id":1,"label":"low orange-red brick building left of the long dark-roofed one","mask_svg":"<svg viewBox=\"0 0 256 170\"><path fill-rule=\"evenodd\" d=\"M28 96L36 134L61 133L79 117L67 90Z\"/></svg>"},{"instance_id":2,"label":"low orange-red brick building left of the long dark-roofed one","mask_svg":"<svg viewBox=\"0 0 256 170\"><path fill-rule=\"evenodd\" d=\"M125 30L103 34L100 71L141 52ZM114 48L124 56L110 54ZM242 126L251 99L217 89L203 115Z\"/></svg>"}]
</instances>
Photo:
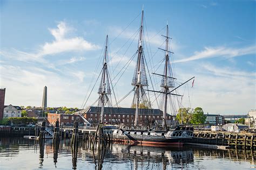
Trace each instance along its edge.
<instances>
[{"instance_id":1,"label":"low orange-red brick building left of the long dark-roofed one","mask_svg":"<svg viewBox=\"0 0 256 170\"><path fill-rule=\"evenodd\" d=\"M74 122L76 121L76 118L79 119L79 125L84 124L83 119L79 115L75 115L75 114L69 115L69 114L48 113L48 117L47 117L49 124L53 126L55 126L57 119L59 120L60 125L73 126Z\"/></svg>"}]
</instances>

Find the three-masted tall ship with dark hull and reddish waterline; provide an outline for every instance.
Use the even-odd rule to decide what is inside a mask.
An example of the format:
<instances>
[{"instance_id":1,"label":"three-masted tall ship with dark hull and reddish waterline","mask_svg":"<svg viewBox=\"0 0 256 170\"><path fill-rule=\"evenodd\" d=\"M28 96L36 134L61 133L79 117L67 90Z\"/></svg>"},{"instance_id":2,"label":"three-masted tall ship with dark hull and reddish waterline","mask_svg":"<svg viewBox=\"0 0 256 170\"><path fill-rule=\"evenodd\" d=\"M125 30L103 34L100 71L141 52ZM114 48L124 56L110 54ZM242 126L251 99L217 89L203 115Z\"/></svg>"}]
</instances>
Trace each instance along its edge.
<instances>
[{"instance_id":1,"label":"three-masted tall ship with dark hull and reddish waterline","mask_svg":"<svg viewBox=\"0 0 256 170\"><path fill-rule=\"evenodd\" d=\"M153 73L154 75L161 77L160 91L149 90L149 83L146 75L146 61L144 56L143 48L143 19L144 19L144 10L142 10L142 18L139 28L139 40L138 40L138 49L136 67L134 69L132 86L133 86L133 101L132 107L135 109L134 121L131 126L120 126L117 129L113 129L113 140L116 141L126 141L128 143L140 143L140 144L153 144L153 145L182 145L186 140L193 137L193 128L184 126L184 125L173 125L167 126L166 124L166 113L167 113L167 102L171 100L170 95L180 96L176 94L176 89L183 84L187 83L187 80L184 83L181 83L178 87L175 86L174 81L176 78L173 76L171 63L170 63L170 53L169 51L169 28L168 24L166 25L166 35L165 38L165 49L159 48L165 52L165 62L164 62L164 72L163 74ZM103 68L101 71L101 80L100 86L98 89L98 108L100 109L100 118L99 124L104 125L104 109L107 103L110 103L110 94L111 94L111 79L109 71L107 69L107 37L106 37L106 46L104 51L104 60ZM150 104L149 95L146 94L146 91L151 91L153 93L159 93L163 96L163 121L161 121L161 126L142 126L139 123L140 116L140 106L143 102L147 101ZM151 106L149 110L151 109Z\"/></svg>"}]
</instances>

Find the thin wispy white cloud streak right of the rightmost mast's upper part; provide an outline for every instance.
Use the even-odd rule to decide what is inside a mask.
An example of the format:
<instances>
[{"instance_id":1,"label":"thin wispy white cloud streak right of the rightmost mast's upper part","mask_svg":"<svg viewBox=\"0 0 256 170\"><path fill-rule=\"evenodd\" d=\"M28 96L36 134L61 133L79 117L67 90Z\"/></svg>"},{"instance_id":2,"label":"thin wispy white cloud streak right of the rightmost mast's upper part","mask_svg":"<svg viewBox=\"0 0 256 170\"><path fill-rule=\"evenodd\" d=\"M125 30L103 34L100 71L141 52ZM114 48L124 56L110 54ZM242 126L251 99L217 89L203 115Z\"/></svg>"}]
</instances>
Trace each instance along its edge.
<instances>
[{"instance_id":1,"label":"thin wispy white cloud streak right of the rightmost mast's upper part","mask_svg":"<svg viewBox=\"0 0 256 170\"><path fill-rule=\"evenodd\" d=\"M224 57L224 58L233 58L235 56L242 56L248 54L256 54L256 46L248 46L243 48L227 48L227 47L205 47L203 51L194 52L194 55L176 60L174 62L187 62L199 59L213 58L213 57Z\"/></svg>"}]
</instances>

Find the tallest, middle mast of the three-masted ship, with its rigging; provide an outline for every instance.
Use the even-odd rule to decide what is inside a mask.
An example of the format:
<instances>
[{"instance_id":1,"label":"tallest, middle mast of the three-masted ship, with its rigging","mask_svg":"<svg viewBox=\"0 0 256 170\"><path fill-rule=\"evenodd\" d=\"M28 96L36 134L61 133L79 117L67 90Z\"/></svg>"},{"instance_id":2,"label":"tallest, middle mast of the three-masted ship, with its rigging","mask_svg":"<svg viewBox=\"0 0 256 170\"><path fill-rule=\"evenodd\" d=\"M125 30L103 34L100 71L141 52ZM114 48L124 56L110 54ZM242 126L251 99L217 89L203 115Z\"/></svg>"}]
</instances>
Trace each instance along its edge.
<instances>
[{"instance_id":1,"label":"tallest, middle mast of the three-masted ship, with its rigging","mask_svg":"<svg viewBox=\"0 0 256 170\"><path fill-rule=\"evenodd\" d=\"M138 42L138 58L136 63L136 68L134 70L132 85L134 86L134 97L133 97L133 105L136 107L135 111L135 119L134 126L139 125L139 104L142 101L143 97L145 97L145 91L143 89L144 86L148 86L147 78L146 78L146 70L143 56L143 15L144 10L142 10L142 20L140 23L139 30L139 42Z\"/></svg>"}]
</instances>

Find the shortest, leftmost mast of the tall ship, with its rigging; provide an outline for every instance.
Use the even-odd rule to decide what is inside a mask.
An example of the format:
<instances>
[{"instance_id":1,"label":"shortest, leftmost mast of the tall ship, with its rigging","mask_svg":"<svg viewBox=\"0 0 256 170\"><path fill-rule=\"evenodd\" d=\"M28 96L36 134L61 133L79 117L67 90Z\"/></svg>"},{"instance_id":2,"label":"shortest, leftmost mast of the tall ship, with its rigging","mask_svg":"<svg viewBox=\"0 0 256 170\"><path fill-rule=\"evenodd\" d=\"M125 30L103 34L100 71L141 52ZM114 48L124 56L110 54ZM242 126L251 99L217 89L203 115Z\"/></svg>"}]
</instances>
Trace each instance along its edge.
<instances>
[{"instance_id":1,"label":"shortest, leftmost mast of the tall ship, with its rigging","mask_svg":"<svg viewBox=\"0 0 256 170\"><path fill-rule=\"evenodd\" d=\"M109 72L107 70L107 39L108 36L106 36L106 46L105 46L105 52L104 52L104 59L103 59L103 68L102 68L102 79L100 81L99 85L99 105L101 105L101 112L100 112L100 123L104 123L103 117L104 117L104 107L107 102L109 102L109 97L107 95L111 95L110 90L110 84L109 84Z\"/></svg>"}]
</instances>

